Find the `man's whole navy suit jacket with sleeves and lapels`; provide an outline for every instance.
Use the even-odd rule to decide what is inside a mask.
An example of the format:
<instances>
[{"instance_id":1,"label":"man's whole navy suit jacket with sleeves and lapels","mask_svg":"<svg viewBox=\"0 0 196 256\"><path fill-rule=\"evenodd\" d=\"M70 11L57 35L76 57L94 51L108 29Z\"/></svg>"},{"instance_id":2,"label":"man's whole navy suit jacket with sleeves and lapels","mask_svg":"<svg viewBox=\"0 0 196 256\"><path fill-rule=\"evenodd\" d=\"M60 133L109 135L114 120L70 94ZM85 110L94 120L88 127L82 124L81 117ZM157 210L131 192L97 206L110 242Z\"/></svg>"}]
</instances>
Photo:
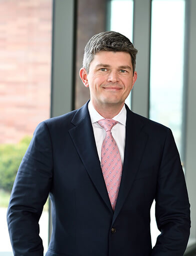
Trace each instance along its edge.
<instances>
[{"instance_id":1,"label":"man's whole navy suit jacket with sleeves and lapels","mask_svg":"<svg viewBox=\"0 0 196 256\"><path fill-rule=\"evenodd\" d=\"M43 255L38 220L48 193L52 235L46 256L183 255L189 203L173 136L167 127L126 110L124 163L114 212L87 103L37 126L7 211L14 255ZM152 248L153 199L161 234Z\"/></svg>"}]
</instances>

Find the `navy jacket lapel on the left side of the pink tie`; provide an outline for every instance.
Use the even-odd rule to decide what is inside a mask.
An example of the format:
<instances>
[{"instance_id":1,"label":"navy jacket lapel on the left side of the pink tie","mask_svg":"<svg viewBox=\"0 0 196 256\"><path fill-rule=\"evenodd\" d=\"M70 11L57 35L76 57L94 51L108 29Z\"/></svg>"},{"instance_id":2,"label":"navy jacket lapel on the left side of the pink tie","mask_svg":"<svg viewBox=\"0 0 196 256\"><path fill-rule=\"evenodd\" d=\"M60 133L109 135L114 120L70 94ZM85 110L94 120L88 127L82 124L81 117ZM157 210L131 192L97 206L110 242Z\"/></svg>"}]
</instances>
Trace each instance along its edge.
<instances>
[{"instance_id":1,"label":"navy jacket lapel on the left side of the pink tie","mask_svg":"<svg viewBox=\"0 0 196 256\"><path fill-rule=\"evenodd\" d=\"M92 124L88 113L87 103L78 109L72 119L75 125L69 130L73 144L81 161L101 198L112 212L111 204L105 187L100 161L96 150Z\"/></svg>"}]
</instances>

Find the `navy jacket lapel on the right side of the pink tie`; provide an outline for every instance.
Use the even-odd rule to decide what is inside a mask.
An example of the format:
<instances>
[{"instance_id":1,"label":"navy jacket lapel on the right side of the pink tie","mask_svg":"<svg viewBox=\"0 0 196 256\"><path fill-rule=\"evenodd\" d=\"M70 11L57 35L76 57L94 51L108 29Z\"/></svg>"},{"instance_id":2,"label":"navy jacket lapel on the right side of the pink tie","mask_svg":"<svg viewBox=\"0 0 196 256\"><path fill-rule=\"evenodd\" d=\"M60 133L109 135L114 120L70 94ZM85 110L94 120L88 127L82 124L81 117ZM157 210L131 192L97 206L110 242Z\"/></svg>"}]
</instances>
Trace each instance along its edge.
<instances>
[{"instance_id":1,"label":"navy jacket lapel on the right side of the pink tie","mask_svg":"<svg viewBox=\"0 0 196 256\"><path fill-rule=\"evenodd\" d=\"M124 201L130 191L147 142L147 135L142 131L143 123L128 108L126 116L126 137L124 149L124 163L118 198L113 215L115 221Z\"/></svg>"}]
</instances>

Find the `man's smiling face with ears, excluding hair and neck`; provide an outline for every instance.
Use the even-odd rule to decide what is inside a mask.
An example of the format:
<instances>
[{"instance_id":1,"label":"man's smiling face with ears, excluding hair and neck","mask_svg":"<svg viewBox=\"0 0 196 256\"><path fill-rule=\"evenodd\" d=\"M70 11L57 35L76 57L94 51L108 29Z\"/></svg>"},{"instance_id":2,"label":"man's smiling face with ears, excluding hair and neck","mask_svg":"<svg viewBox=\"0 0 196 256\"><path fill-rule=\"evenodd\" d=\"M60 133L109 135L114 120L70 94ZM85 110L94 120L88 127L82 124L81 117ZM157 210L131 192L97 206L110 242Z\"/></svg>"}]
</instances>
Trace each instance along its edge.
<instances>
[{"instance_id":1,"label":"man's smiling face with ears, excluding hair and neck","mask_svg":"<svg viewBox=\"0 0 196 256\"><path fill-rule=\"evenodd\" d=\"M94 107L99 108L111 104L122 106L137 74L133 73L129 53L101 51L94 55L88 74L81 68L80 77L89 87Z\"/></svg>"}]
</instances>

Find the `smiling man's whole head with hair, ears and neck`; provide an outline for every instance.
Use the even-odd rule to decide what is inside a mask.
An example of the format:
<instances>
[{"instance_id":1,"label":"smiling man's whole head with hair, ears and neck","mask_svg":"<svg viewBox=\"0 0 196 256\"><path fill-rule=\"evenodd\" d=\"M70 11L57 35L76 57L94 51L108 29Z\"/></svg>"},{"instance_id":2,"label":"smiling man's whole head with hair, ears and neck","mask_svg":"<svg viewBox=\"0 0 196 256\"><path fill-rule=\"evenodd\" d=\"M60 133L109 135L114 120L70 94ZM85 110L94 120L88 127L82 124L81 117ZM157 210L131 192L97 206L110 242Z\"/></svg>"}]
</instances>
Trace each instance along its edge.
<instances>
[{"instance_id":1,"label":"smiling man's whole head with hair, ears and neck","mask_svg":"<svg viewBox=\"0 0 196 256\"><path fill-rule=\"evenodd\" d=\"M132 43L116 32L99 33L86 44L79 76L89 87L94 108L105 118L119 113L136 81L136 52Z\"/></svg>"}]
</instances>

